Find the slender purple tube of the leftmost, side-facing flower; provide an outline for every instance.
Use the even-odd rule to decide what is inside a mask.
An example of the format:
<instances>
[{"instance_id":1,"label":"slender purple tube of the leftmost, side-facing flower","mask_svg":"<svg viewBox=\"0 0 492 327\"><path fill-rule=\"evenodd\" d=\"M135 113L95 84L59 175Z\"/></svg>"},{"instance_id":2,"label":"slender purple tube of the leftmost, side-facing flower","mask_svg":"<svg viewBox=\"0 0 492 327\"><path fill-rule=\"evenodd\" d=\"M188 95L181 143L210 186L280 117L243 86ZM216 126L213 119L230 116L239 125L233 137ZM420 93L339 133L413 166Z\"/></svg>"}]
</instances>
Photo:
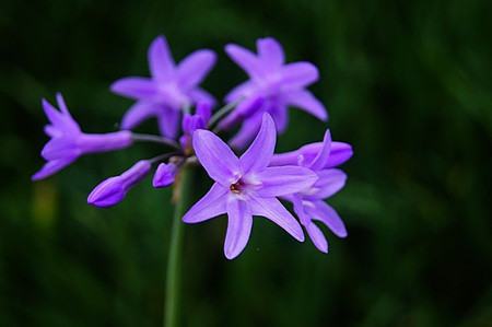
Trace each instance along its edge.
<instances>
[{"instance_id":1,"label":"slender purple tube of the leftmost, side-facing flower","mask_svg":"<svg viewBox=\"0 0 492 327\"><path fill-rule=\"evenodd\" d=\"M106 152L125 149L131 145L131 132L120 130L103 135L82 135L78 140L78 145L83 153Z\"/></svg>"}]
</instances>

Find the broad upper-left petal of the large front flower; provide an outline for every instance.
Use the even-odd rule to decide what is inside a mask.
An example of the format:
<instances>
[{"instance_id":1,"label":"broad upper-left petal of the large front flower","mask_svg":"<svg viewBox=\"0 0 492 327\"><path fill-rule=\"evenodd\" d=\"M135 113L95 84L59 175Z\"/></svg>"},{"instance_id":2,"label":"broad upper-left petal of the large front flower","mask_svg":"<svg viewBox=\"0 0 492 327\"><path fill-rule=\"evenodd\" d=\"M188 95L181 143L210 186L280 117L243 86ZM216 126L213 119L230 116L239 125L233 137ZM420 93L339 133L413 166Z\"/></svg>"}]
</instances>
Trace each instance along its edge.
<instances>
[{"instance_id":1,"label":"broad upper-left petal of the large front flower","mask_svg":"<svg viewBox=\"0 0 492 327\"><path fill-rule=\"evenodd\" d=\"M239 160L219 137L211 131L198 129L192 136L198 161L209 176L225 187L235 182L239 173Z\"/></svg>"}]
</instances>

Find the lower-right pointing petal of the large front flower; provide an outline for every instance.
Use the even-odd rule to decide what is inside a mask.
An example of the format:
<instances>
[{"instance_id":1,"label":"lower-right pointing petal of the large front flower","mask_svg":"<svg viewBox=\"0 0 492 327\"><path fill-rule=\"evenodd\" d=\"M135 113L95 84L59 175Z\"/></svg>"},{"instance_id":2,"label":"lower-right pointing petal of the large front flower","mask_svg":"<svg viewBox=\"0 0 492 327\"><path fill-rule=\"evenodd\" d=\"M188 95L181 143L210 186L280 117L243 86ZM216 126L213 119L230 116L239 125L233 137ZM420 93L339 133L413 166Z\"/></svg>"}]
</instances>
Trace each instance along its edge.
<instances>
[{"instance_id":1,"label":"lower-right pointing petal of the large front flower","mask_svg":"<svg viewBox=\"0 0 492 327\"><path fill-rule=\"evenodd\" d=\"M249 206L254 215L262 215L281 226L295 240L304 241L301 225L277 198L251 197Z\"/></svg>"}]
</instances>

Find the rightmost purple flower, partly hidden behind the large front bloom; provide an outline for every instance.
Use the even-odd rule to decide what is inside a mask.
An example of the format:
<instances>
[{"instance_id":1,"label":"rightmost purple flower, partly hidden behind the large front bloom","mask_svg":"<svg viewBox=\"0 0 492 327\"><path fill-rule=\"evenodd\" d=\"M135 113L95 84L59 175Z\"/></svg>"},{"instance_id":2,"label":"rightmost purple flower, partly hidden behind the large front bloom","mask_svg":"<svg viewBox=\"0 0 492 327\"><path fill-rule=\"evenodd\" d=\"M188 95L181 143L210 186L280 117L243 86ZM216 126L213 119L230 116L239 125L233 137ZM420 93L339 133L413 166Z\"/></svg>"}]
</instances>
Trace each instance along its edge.
<instances>
[{"instance_id":1,"label":"rightmost purple flower, partly hidden behind the large front bloom","mask_svg":"<svg viewBox=\"0 0 492 327\"><path fill-rule=\"evenodd\" d=\"M298 164L314 171L318 179L314 185L306 187L302 191L284 197L284 199L294 205L294 211L301 224L306 229L315 246L324 253L328 253L328 242L314 221L324 223L339 237L347 236L343 221L337 211L328 206L324 199L331 197L345 185L345 173L331 167L349 160L352 155L352 150L348 148L350 147L349 144L338 143L337 152L333 151L335 155L331 159L331 145L330 132L327 130L320 147L303 147L298 150L298 152L304 153L297 155ZM314 148L318 149L315 155L313 155L314 152L312 151ZM282 155L286 159L290 154ZM289 161L285 162L290 164Z\"/></svg>"}]
</instances>

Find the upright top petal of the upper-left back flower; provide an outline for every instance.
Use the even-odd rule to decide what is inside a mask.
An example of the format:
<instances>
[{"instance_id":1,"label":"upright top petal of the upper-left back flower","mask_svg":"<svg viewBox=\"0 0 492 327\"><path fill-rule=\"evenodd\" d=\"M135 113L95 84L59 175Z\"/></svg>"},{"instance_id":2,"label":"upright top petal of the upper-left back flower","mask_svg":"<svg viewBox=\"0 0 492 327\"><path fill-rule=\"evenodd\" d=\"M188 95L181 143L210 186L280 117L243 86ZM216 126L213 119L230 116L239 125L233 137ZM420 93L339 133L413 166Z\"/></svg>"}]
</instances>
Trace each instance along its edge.
<instances>
[{"instance_id":1,"label":"upright top petal of the upper-left back flower","mask_svg":"<svg viewBox=\"0 0 492 327\"><path fill-rule=\"evenodd\" d=\"M157 36L149 47L149 69L157 81L166 81L173 77L175 68L169 46L164 36Z\"/></svg>"}]
</instances>

